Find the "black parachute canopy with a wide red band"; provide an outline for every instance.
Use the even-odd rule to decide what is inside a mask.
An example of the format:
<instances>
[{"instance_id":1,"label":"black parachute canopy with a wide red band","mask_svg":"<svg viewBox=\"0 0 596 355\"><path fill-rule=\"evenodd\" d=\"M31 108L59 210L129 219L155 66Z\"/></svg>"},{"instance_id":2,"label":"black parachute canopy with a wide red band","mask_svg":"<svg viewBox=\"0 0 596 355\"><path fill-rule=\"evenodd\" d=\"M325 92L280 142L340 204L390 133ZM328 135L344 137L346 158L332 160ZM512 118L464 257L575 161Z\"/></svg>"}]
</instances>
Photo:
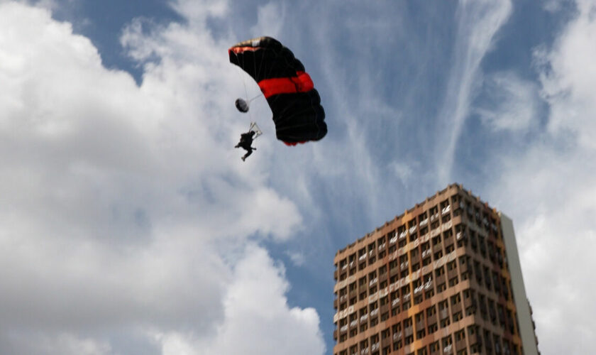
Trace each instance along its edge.
<instances>
[{"instance_id":1,"label":"black parachute canopy with a wide red band","mask_svg":"<svg viewBox=\"0 0 596 355\"><path fill-rule=\"evenodd\" d=\"M230 62L258 83L273 112L277 139L295 146L326 135L319 92L292 51L274 38L260 37L233 45L228 53Z\"/></svg>"}]
</instances>

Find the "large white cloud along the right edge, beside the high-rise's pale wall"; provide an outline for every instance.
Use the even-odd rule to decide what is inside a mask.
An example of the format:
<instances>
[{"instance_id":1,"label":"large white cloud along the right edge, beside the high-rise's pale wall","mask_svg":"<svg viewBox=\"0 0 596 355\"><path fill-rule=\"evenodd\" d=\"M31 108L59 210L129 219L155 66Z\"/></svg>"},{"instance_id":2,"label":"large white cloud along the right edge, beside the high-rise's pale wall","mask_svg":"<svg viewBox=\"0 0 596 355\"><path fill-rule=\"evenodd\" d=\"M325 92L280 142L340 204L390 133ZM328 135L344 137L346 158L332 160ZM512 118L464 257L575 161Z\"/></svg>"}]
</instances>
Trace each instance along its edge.
<instances>
[{"instance_id":1,"label":"large white cloud along the right edge, beside the high-rise's pale wall","mask_svg":"<svg viewBox=\"0 0 596 355\"><path fill-rule=\"evenodd\" d=\"M578 10L539 58L547 129L528 151L504 158L489 194L516 224L543 354L590 354L596 336L596 5L578 1Z\"/></svg>"}]
</instances>

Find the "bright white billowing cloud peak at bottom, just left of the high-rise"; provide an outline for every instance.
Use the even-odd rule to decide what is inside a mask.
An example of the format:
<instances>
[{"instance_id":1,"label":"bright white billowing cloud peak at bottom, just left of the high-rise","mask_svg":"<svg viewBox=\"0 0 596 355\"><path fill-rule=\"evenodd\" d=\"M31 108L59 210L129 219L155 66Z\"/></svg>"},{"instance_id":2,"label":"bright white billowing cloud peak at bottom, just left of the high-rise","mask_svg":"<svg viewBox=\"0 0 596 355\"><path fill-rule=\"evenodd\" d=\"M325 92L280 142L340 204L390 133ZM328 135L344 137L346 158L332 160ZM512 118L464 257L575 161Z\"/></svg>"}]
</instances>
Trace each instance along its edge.
<instances>
[{"instance_id":1,"label":"bright white billowing cloud peak at bottom, just left of the high-rise","mask_svg":"<svg viewBox=\"0 0 596 355\"><path fill-rule=\"evenodd\" d=\"M249 246L236 264L224 304L226 315L213 337L157 334L162 354L322 354L319 316L311 308L290 308L285 271L264 249Z\"/></svg>"}]
</instances>

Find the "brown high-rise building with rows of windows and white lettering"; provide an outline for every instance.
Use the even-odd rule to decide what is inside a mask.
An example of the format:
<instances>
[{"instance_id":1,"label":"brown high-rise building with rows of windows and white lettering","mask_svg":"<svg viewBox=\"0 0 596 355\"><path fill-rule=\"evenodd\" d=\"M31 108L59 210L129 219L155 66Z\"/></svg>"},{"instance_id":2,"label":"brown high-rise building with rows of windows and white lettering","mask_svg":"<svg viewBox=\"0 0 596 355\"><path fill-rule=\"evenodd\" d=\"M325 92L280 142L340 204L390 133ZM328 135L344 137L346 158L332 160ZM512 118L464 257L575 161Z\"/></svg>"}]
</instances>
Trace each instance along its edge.
<instances>
[{"instance_id":1,"label":"brown high-rise building with rows of windows and white lettering","mask_svg":"<svg viewBox=\"0 0 596 355\"><path fill-rule=\"evenodd\" d=\"M539 354L512 221L461 185L333 263L334 355Z\"/></svg>"}]
</instances>

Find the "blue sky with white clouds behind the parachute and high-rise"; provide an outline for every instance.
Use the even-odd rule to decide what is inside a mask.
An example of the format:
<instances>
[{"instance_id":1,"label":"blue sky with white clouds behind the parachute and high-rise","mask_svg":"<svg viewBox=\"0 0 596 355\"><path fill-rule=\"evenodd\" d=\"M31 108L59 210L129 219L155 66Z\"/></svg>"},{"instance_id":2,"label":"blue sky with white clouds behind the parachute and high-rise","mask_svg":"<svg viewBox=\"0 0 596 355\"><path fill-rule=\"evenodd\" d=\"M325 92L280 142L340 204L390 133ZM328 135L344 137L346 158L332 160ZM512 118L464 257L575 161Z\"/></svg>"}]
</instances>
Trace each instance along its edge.
<instances>
[{"instance_id":1,"label":"blue sky with white clouds behind the parachute and high-rise","mask_svg":"<svg viewBox=\"0 0 596 355\"><path fill-rule=\"evenodd\" d=\"M0 0L0 354L332 354L335 252L453 182L512 218L541 354L590 354L595 14ZM323 140L236 111L259 91L227 48L260 35L304 63Z\"/></svg>"}]
</instances>

